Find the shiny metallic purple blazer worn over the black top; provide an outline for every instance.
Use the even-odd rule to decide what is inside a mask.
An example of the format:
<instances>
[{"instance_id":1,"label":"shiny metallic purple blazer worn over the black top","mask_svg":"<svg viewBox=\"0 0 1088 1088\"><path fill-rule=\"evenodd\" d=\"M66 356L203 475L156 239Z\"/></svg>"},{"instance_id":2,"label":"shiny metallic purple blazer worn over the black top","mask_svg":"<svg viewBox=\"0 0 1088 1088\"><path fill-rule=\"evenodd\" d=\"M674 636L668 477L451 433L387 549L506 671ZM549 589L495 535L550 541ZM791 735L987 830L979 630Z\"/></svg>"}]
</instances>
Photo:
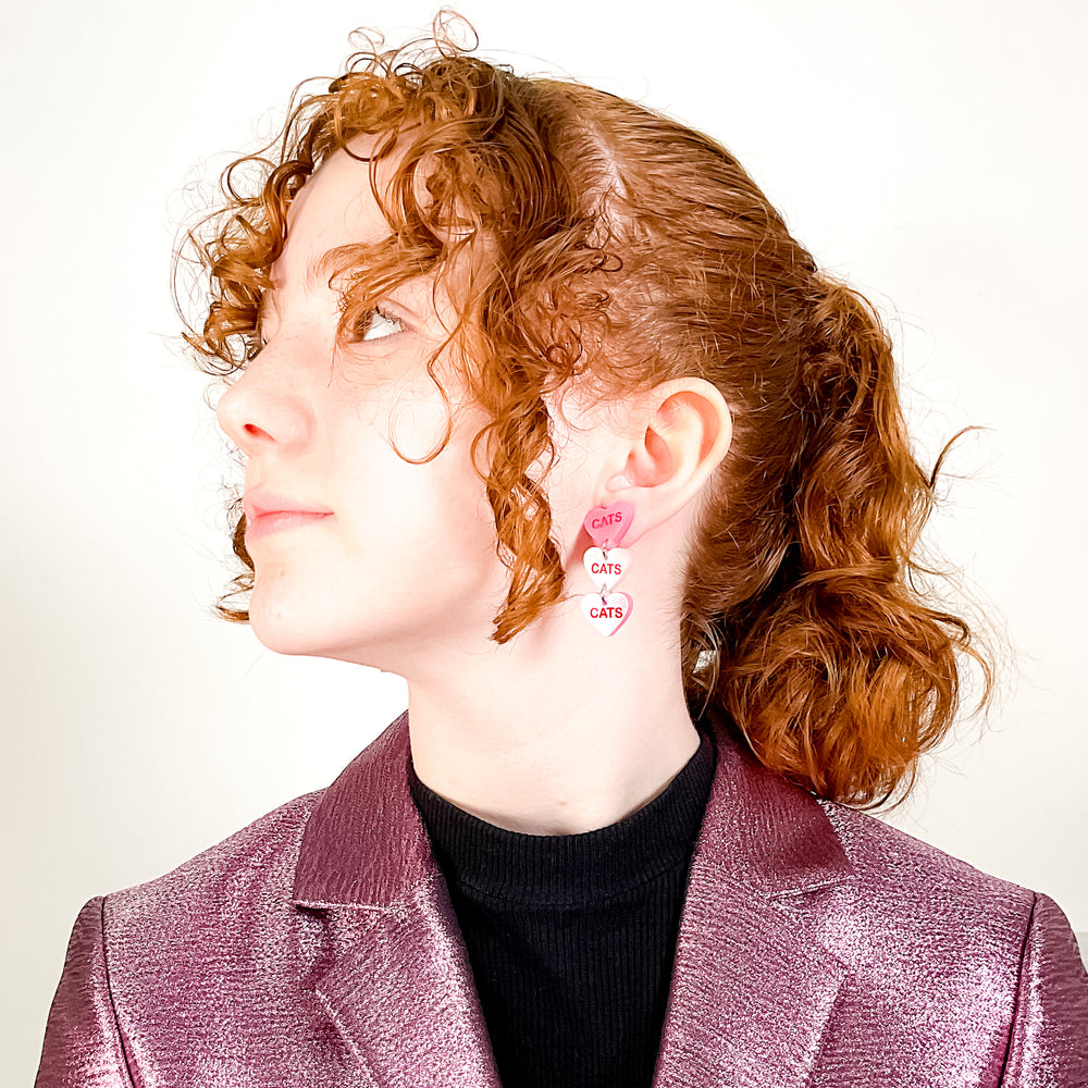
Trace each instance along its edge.
<instances>
[{"instance_id":1,"label":"shiny metallic purple blazer worn over the black top","mask_svg":"<svg viewBox=\"0 0 1088 1088\"><path fill-rule=\"evenodd\" d=\"M655 1088L1088 1086L1062 911L716 738ZM498 1088L407 712L326 790L81 912L38 1088Z\"/></svg>"}]
</instances>

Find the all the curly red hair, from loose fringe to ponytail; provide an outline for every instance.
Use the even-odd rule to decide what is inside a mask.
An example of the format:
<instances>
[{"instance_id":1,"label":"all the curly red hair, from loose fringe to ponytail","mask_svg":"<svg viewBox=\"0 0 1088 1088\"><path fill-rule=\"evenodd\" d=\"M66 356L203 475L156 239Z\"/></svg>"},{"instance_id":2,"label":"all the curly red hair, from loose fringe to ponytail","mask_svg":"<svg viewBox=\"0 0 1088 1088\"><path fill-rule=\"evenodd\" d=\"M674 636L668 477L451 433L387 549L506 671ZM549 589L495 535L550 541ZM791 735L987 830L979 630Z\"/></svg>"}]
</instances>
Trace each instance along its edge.
<instances>
[{"instance_id":1,"label":"all the curly red hair, from loose fringe to ponytail","mask_svg":"<svg viewBox=\"0 0 1088 1088\"><path fill-rule=\"evenodd\" d=\"M440 35L357 53L293 104L274 153L228 169L223 208L189 235L210 305L187 339L209 372L259 349L290 202L362 135L376 137L373 161L397 145L390 235L333 255L342 332L408 279L472 269L454 339L490 420L477 442L493 452L487 496L510 569L492 638L514 638L564 594L531 471L554 457L546 395L573 379L621 398L700 375L725 396L734 434L690 542L689 703L819 796L905 795L953 722L964 655L981 667L984 704L991 670L968 625L914 588L937 470L912 455L874 308L817 269L715 140ZM236 518L244 594L252 564ZM232 595L221 613L245 620Z\"/></svg>"}]
</instances>

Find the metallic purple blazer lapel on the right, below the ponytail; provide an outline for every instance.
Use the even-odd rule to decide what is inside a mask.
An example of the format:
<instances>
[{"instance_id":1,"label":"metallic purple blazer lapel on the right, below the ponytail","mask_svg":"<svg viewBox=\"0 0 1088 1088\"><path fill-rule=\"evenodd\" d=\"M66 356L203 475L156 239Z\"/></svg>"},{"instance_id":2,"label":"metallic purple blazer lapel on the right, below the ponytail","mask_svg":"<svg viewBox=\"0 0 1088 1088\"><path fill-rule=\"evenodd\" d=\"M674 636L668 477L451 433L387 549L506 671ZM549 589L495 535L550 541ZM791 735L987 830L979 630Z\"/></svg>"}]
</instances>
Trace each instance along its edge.
<instances>
[{"instance_id":1,"label":"metallic purple blazer lapel on the right, below the ponytail","mask_svg":"<svg viewBox=\"0 0 1088 1088\"><path fill-rule=\"evenodd\" d=\"M819 920L853 869L814 798L717 742L654 1086L803 1088L849 974Z\"/></svg>"}]
</instances>

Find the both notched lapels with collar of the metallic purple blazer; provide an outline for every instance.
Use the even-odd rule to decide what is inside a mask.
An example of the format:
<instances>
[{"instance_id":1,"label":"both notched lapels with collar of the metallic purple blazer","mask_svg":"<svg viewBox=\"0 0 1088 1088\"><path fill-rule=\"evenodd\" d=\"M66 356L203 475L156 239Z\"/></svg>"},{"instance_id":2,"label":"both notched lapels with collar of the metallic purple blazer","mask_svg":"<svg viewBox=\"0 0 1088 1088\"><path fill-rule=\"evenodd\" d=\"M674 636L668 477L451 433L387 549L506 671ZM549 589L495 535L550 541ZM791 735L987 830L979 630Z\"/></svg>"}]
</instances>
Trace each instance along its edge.
<instances>
[{"instance_id":1,"label":"both notched lapels with collar of the metallic purple blazer","mask_svg":"<svg viewBox=\"0 0 1088 1088\"><path fill-rule=\"evenodd\" d=\"M715 732L654 1088L803 1088L849 973L826 947L853 870L820 804ZM407 782L407 712L314 807L298 906L338 953L316 992L382 1088L498 1088L442 873Z\"/></svg>"}]
</instances>

